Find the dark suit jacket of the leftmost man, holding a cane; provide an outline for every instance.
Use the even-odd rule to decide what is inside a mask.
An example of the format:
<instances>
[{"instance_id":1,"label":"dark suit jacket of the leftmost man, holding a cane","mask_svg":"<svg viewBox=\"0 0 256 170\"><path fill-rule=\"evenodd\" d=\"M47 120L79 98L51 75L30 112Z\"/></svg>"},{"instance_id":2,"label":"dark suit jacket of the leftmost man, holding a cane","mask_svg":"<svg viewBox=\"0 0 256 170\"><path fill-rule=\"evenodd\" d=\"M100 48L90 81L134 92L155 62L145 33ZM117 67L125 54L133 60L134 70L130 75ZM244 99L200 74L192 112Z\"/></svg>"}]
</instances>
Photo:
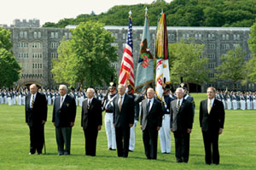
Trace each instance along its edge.
<instances>
[{"instance_id":1,"label":"dark suit jacket of the leftmost man, holding a cane","mask_svg":"<svg viewBox=\"0 0 256 170\"><path fill-rule=\"evenodd\" d=\"M33 108L30 108L31 94L26 95L26 123L29 126L41 124L47 121L47 102L44 94L37 93Z\"/></svg>"}]
</instances>

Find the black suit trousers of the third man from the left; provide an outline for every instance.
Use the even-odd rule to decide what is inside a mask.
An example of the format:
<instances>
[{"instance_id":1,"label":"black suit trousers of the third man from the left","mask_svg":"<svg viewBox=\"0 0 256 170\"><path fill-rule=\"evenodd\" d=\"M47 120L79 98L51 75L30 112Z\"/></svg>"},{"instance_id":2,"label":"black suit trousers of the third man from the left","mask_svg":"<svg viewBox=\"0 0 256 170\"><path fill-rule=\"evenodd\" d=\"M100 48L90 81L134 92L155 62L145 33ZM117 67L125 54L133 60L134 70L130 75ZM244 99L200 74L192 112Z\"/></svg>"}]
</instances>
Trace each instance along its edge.
<instances>
[{"instance_id":1,"label":"black suit trousers of the third man from the left","mask_svg":"<svg viewBox=\"0 0 256 170\"><path fill-rule=\"evenodd\" d=\"M96 139L98 136L98 127L87 127L84 129L85 155L96 156Z\"/></svg>"}]
</instances>

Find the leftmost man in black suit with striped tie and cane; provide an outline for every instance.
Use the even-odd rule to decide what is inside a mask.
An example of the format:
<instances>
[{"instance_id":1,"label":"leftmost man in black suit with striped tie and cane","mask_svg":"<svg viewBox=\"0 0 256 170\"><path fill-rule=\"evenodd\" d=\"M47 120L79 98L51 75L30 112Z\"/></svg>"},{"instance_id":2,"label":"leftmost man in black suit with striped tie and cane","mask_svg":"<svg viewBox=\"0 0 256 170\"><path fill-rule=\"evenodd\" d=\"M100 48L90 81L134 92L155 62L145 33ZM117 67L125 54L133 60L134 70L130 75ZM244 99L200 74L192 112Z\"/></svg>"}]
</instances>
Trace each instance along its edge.
<instances>
[{"instance_id":1,"label":"leftmost man in black suit with striped tie and cane","mask_svg":"<svg viewBox=\"0 0 256 170\"><path fill-rule=\"evenodd\" d=\"M47 102L44 94L38 93L36 84L30 86L26 95L26 123L30 130L30 155L42 154L44 146L44 123L47 121Z\"/></svg>"}]
</instances>

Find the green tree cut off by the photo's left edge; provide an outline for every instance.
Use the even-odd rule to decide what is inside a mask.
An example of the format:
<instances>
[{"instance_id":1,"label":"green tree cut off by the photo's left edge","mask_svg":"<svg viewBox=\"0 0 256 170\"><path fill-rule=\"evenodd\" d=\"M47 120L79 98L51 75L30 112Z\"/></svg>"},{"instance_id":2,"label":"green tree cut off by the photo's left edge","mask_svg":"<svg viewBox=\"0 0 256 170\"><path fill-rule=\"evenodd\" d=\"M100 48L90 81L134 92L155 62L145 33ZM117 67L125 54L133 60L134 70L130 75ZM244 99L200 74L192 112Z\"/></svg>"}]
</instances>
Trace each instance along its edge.
<instances>
[{"instance_id":1,"label":"green tree cut off by the photo's left edge","mask_svg":"<svg viewBox=\"0 0 256 170\"><path fill-rule=\"evenodd\" d=\"M20 78L21 68L10 48L10 31L0 27L0 88L10 88Z\"/></svg>"}]
</instances>

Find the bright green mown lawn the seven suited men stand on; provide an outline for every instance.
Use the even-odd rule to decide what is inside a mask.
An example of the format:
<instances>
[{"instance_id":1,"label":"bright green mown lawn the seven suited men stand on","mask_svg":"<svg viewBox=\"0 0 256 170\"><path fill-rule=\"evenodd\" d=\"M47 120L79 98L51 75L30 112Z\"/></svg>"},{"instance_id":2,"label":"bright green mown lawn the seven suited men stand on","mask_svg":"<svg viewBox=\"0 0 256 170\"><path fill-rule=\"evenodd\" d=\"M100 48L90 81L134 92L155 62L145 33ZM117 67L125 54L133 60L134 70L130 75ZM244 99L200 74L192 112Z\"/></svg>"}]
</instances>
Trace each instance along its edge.
<instances>
[{"instance_id":1,"label":"bright green mown lawn the seven suited men stand on","mask_svg":"<svg viewBox=\"0 0 256 170\"><path fill-rule=\"evenodd\" d=\"M52 106L48 107L45 125L46 155L29 156L29 129L25 123L24 106L0 105L0 169L256 169L256 111L226 111L224 133L219 138L220 164L205 165L204 148L199 127L199 102L206 94L192 94L195 98L195 122L190 137L188 164L176 163L174 138L172 153L160 153L158 159L147 160L144 155L142 132L136 128L136 148L129 157L119 158L108 150L103 125L98 134L96 157L84 156L84 133L80 127L81 107L78 107L73 127L71 156L57 156L55 128L51 123Z\"/></svg>"}]
</instances>

